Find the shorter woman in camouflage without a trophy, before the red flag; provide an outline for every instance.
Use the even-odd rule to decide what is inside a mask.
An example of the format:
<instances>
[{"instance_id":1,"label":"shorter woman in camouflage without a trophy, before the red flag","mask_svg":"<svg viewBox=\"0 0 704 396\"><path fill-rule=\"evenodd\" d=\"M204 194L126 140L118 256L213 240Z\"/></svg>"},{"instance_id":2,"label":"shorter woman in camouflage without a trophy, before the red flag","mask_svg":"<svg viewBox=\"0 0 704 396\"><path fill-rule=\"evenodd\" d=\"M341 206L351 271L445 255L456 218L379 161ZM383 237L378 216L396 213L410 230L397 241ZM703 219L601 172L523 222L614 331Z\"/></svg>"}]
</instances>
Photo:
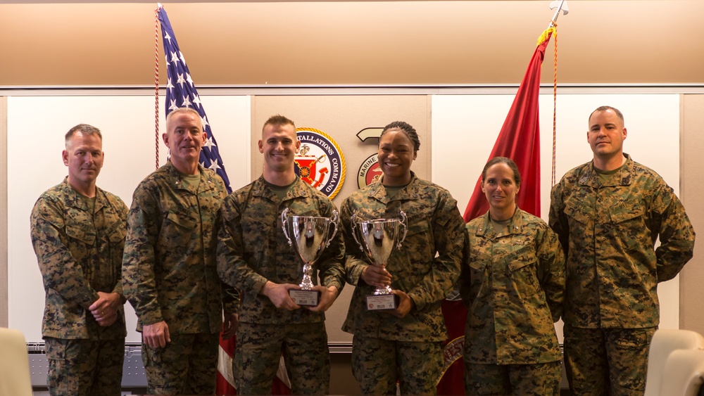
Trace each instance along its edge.
<instances>
[{"instance_id":1,"label":"shorter woman in camouflage without a trophy, before the red flag","mask_svg":"<svg viewBox=\"0 0 704 396\"><path fill-rule=\"evenodd\" d=\"M489 160L482 171L489 211L467 224L460 276L467 395L560 394L553 322L562 313L565 255L548 224L517 207L520 187L513 160Z\"/></svg>"}]
</instances>

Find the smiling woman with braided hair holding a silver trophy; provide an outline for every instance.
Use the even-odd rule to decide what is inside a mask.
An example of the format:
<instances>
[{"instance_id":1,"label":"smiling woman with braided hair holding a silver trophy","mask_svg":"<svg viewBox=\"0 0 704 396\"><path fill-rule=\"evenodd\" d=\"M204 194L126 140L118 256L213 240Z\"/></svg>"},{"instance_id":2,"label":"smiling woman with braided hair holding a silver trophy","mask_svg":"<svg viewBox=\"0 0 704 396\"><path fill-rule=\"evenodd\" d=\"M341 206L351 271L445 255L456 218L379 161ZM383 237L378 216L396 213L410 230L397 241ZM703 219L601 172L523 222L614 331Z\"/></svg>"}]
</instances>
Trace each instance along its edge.
<instances>
[{"instance_id":1,"label":"smiling woman with braided hair holding a silver trophy","mask_svg":"<svg viewBox=\"0 0 704 396\"><path fill-rule=\"evenodd\" d=\"M450 193L411 172L420 140L384 127L383 176L341 205L346 280L356 286L342 329L365 395L434 395L446 340L440 303L460 273L465 223Z\"/></svg>"}]
</instances>

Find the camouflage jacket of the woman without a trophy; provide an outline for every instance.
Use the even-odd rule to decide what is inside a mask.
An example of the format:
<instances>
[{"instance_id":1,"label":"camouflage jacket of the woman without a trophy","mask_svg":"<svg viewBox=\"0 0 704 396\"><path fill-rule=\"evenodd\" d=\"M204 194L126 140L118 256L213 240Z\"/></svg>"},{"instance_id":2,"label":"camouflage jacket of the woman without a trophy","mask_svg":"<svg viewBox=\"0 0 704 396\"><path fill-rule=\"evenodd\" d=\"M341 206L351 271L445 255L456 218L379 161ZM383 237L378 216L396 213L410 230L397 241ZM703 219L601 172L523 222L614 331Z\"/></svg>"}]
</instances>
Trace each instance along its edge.
<instances>
[{"instance_id":1,"label":"camouflage jacket of the woman without a trophy","mask_svg":"<svg viewBox=\"0 0 704 396\"><path fill-rule=\"evenodd\" d=\"M516 209L496 234L489 212L467 224L465 359L486 364L560 360L553 322L560 319L565 255L539 217Z\"/></svg>"}]
</instances>

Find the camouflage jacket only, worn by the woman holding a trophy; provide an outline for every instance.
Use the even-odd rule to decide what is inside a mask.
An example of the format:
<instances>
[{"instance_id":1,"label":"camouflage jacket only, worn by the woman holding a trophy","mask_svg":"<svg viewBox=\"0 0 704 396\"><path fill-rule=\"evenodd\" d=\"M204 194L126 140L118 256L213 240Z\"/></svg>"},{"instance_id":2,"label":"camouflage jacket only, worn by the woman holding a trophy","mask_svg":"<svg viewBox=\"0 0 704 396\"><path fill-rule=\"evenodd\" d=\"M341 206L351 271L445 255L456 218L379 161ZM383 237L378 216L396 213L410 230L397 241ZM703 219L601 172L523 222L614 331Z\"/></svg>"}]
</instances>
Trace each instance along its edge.
<instances>
[{"instance_id":1,"label":"camouflage jacket only, worn by the woman holding a trophy","mask_svg":"<svg viewBox=\"0 0 704 396\"><path fill-rule=\"evenodd\" d=\"M381 181L352 193L341 207L347 250L346 275L357 286L342 330L358 336L398 341L444 341L447 331L440 302L457 281L465 245L465 222L450 193L436 184L418 179L393 198L386 195ZM408 293L415 309L403 319L378 311L367 311L366 296L373 286L361 278L370 262L360 251L351 232L350 217L360 220L398 219L399 210L408 216L408 234L401 249L389 257L391 288ZM437 253L437 255L436 255Z\"/></svg>"}]
</instances>

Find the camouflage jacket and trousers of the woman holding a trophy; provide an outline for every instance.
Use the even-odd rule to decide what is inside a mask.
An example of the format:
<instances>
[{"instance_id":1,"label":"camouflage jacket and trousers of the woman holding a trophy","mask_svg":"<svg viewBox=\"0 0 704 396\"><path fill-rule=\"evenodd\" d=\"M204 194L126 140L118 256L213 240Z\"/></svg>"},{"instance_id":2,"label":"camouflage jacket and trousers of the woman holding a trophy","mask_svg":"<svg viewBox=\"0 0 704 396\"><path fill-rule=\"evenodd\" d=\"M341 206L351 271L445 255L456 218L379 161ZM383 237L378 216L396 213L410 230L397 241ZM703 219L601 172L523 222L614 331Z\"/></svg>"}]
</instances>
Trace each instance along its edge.
<instances>
[{"instance_id":1,"label":"camouflage jacket and trousers of the woman holding a trophy","mask_svg":"<svg viewBox=\"0 0 704 396\"><path fill-rule=\"evenodd\" d=\"M381 181L360 189L341 205L345 231L347 281L356 286L342 329L353 333L352 370L364 394L434 394L443 366L447 338L440 303L460 274L465 245L465 223L446 190L418 179L390 197ZM352 236L356 221L408 216L403 246L389 257L386 269L391 288L406 293L413 307L406 317L367 310L366 296L374 287L362 279L371 263ZM437 255L436 255L437 253Z\"/></svg>"}]
</instances>

